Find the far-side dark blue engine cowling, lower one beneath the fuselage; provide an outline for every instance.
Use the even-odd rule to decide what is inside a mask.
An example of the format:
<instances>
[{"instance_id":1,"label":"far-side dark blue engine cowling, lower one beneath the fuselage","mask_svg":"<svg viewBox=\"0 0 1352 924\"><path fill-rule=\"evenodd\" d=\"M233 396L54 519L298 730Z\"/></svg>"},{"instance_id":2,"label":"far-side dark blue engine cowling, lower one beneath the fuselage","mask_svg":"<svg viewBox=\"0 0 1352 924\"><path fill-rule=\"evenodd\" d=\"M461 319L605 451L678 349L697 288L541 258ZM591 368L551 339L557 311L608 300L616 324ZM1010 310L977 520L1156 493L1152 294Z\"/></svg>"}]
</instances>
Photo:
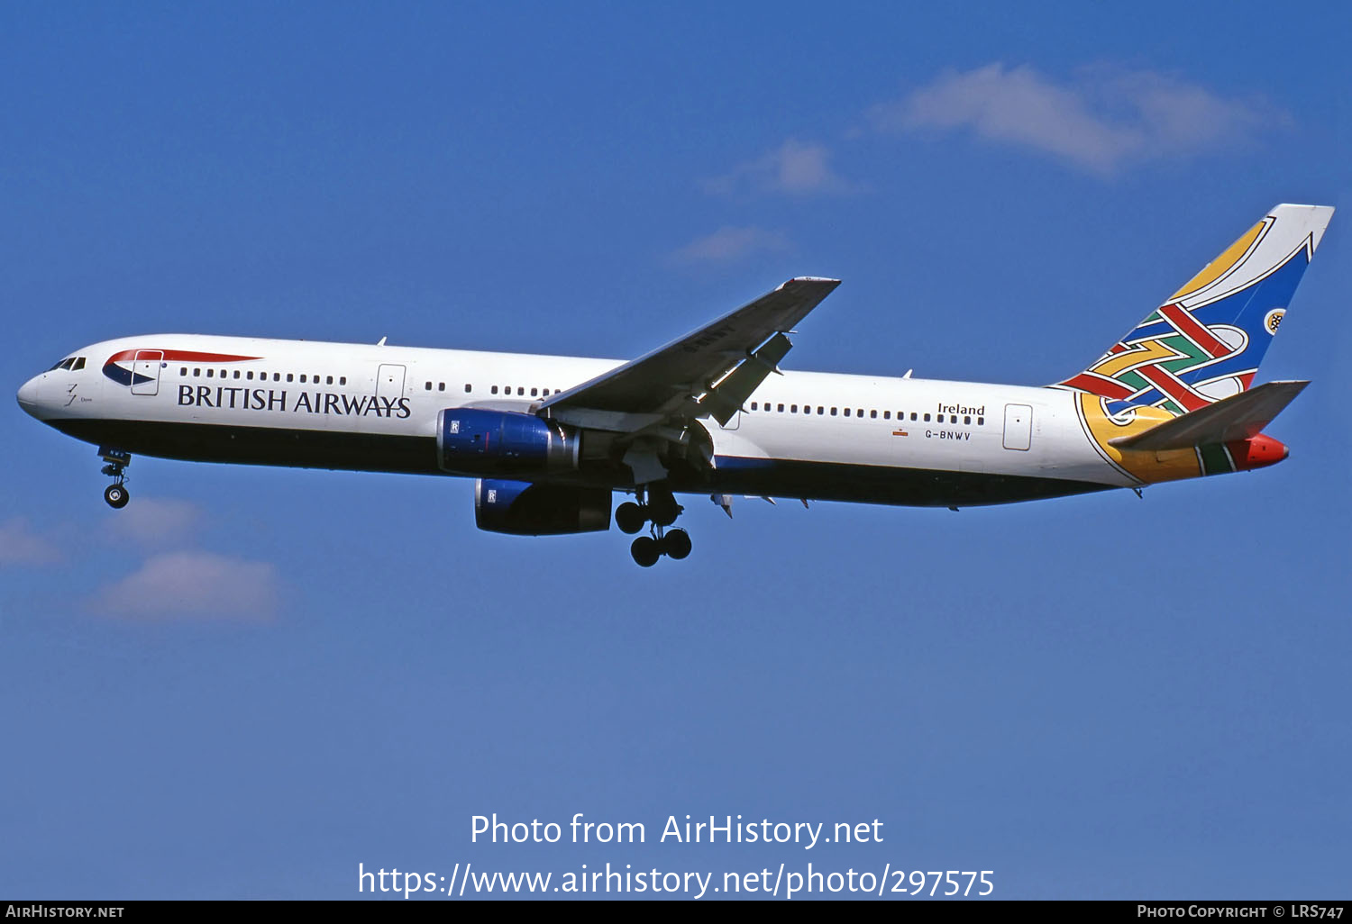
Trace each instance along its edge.
<instances>
[{"instance_id":1,"label":"far-side dark blue engine cowling, lower one beneath the fuselage","mask_svg":"<svg viewBox=\"0 0 1352 924\"><path fill-rule=\"evenodd\" d=\"M516 536L560 536L610 528L610 489L480 478L475 524Z\"/></svg>"}]
</instances>

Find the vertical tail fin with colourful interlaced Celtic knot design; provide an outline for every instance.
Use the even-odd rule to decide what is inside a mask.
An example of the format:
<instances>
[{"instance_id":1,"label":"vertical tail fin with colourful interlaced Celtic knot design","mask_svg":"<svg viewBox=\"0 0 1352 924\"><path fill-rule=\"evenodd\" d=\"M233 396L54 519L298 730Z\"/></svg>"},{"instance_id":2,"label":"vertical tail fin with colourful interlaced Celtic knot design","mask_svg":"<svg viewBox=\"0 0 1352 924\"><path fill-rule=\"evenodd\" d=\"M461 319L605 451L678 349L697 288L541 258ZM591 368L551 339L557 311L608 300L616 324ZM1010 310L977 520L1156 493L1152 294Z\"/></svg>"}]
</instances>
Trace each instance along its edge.
<instances>
[{"instance_id":1,"label":"vertical tail fin with colourful interlaced Celtic knot design","mask_svg":"<svg viewBox=\"0 0 1352 924\"><path fill-rule=\"evenodd\" d=\"M1332 215L1329 205L1275 207L1059 386L1106 399L1110 415L1132 405L1180 415L1247 390Z\"/></svg>"}]
</instances>

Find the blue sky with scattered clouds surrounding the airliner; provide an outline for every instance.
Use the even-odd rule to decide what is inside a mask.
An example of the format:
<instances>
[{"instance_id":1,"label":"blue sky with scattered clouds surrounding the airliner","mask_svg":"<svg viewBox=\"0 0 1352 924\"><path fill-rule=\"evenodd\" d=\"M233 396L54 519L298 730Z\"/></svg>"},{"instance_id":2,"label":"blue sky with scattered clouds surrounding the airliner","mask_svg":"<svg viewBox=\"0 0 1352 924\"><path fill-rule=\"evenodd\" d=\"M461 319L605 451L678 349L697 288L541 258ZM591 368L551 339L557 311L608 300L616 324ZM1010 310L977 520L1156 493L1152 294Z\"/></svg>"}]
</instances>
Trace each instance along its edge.
<instances>
[{"instance_id":1,"label":"blue sky with scattered clouds surrounding the airliner","mask_svg":"<svg viewBox=\"0 0 1352 924\"><path fill-rule=\"evenodd\" d=\"M0 11L18 386L193 331L638 355L791 276L794 369L1042 384L1279 201L1341 207L1341 5ZM472 482L138 458L0 415L0 894L356 897L357 865L994 870L1347 894L1348 235L1270 470L735 517L639 570ZM470 817L648 843L470 843ZM656 843L669 815L884 842Z\"/></svg>"}]
</instances>

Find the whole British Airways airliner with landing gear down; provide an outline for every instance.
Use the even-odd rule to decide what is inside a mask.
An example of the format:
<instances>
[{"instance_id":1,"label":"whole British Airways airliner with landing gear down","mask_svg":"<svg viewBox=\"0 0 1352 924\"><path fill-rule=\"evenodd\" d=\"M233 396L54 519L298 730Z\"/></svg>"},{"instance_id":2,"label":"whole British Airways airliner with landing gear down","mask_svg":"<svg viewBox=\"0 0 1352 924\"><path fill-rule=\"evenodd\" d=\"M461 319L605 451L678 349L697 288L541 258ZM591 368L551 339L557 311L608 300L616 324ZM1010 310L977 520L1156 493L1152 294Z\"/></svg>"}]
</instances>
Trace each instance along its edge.
<instances>
[{"instance_id":1,"label":"whole British Airways airliner with landing gear down","mask_svg":"<svg viewBox=\"0 0 1352 924\"><path fill-rule=\"evenodd\" d=\"M114 508L132 454L461 476L481 530L646 527L650 567L691 553L677 494L959 509L1280 462L1261 431L1309 382L1253 377L1332 215L1276 205L1045 386L781 370L840 285L798 277L629 362L155 334L76 350L18 400L99 447Z\"/></svg>"}]
</instances>

